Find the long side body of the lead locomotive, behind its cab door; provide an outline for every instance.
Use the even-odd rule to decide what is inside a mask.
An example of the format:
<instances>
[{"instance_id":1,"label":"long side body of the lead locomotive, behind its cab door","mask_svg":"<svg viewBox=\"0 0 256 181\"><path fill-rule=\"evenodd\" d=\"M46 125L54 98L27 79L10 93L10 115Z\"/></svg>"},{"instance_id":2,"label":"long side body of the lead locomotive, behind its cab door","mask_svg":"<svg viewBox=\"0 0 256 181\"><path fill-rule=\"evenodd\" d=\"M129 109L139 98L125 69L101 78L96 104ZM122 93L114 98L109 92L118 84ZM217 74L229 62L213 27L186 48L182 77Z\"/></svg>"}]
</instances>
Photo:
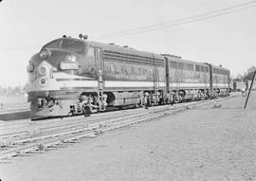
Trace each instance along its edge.
<instances>
[{"instance_id":1,"label":"long side body of the lead locomotive, behind its cab door","mask_svg":"<svg viewBox=\"0 0 256 181\"><path fill-rule=\"evenodd\" d=\"M101 47L102 86L108 105L138 104L144 91L156 89L156 82L157 88L164 88L164 59L161 56L117 45L92 42L90 45Z\"/></svg>"}]
</instances>

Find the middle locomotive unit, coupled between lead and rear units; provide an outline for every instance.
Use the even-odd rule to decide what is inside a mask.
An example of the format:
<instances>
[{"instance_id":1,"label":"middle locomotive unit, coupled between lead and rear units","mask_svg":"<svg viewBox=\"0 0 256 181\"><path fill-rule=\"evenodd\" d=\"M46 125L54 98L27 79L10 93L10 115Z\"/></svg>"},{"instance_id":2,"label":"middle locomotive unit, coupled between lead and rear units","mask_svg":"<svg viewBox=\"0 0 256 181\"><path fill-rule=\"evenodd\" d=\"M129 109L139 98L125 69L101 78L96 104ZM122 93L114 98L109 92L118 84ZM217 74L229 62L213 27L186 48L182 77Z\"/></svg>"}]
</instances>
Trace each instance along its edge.
<instances>
[{"instance_id":1,"label":"middle locomotive unit, coupled between lead and rear units","mask_svg":"<svg viewBox=\"0 0 256 181\"><path fill-rule=\"evenodd\" d=\"M202 99L210 88L209 65L167 56L169 62L169 91L180 92L182 100Z\"/></svg>"}]
</instances>

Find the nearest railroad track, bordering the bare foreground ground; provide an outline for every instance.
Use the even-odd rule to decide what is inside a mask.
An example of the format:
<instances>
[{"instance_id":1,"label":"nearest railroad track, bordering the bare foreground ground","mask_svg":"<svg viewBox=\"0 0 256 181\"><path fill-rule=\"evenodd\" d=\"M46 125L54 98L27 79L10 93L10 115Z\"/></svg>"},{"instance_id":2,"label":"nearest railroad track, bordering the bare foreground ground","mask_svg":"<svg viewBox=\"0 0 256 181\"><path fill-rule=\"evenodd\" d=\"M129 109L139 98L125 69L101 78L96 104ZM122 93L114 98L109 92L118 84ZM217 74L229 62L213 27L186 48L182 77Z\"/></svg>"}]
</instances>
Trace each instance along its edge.
<instances>
[{"instance_id":1,"label":"nearest railroad track, bordering the bare foreground ground","mask_svg":"<svg viewBox=\"0 0 256 181\"><path fill-rule=\"evenodd\" d=\"M18 154L26 154L29 152L45 150L50 146L58 145L61 143L76 140L86 136L97 136L98 134L101 134L109 130L118 129L120 127L128 126L141 121L159 118L161 116L172 114L174 112L178 112L184 109L186 110L186 108L189 106L191 107L201 106L201 105L207 104L208 102L209 101L206 100L206 101L188 103L186 105L181 105L176 108L169 107L164 109L155 109L143 114L137 114L137 115L123 117L123 118L114 118L114 119L99 121L96 123L91 123L90 125L88 125L88 127L69 130L63 133L55 133L55 134L52 134L51 136L37 137L39 139L33 140L36 142L32 142L30 140L30 142L28 142L27 145L25 146L23 144L21 146L17 145L17 148L12 148L7 151L1 152L0 159L4 159L4 158L11 157ZM29 141L29 140L26 140L26 141ZM26 143L26 142L23 142L23 143Z\"/></svg>"}]
</instances>

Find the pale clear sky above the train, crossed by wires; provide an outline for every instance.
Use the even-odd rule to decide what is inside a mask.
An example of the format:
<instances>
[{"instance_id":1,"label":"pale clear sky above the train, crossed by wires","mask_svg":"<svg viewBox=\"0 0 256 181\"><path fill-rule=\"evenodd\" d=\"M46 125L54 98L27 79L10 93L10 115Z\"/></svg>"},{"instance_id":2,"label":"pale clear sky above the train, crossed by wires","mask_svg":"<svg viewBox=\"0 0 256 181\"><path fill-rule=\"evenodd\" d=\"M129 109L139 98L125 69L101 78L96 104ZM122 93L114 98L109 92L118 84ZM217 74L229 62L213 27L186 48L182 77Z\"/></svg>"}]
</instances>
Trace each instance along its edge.
<instances>
[{"instance_id":1,"label":"pale clear sky above the train, crossed by wires","mask_svg":"<svg viewBox=\"0 0 256 181\"><path fill-rule=\"evenodd\" d=\"M188 19L247 2L252 4L240 10ZM255 19L252 0L3 0L0 86L24 85L33 54L64 34L80 33L91 41L222 64L237 76L256 65Z\"/></svg>"}]
</instances>

